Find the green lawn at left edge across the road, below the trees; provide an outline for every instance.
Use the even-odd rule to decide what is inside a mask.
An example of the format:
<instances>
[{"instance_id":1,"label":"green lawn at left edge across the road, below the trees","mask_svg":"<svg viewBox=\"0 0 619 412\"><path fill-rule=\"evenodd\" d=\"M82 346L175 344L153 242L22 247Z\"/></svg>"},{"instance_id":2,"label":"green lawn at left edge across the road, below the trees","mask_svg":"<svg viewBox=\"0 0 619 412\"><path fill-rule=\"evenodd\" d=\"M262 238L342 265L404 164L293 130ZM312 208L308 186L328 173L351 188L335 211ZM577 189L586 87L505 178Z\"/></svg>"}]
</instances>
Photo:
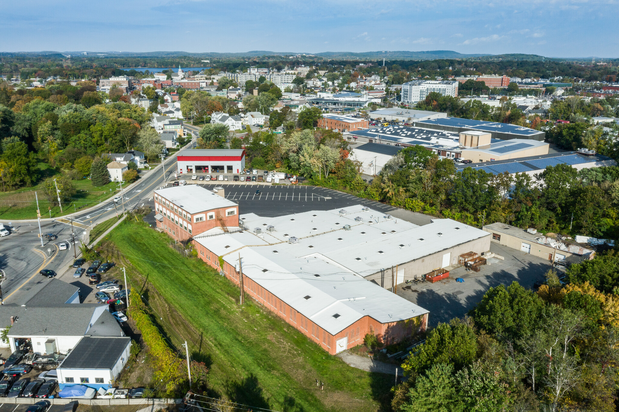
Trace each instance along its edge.
<instances>
[{"instance_id":1,"label":"green lawn at left edge across the road, below the trees","mask_svg":"<svg viewBox=\"0 0 619 412\"><path fill-rule=\"evenodd\" d=\"M108 197L115 194L118 184L110 182L105 186L95 187L92 186L90 179L82 179L74 180L73 186L77 189L77 193L72 197L71 202L63 202L63 212L60 212L58 205L53 206L51 214L50 210L48 210L51 202L45 194L42 183L35 187L20 189L19 191L0 193L0 219L36 219L37 202L35 192L38 195L41 217L54 218L91 207L102 200L108 199Z\"/></svg>"}]
</instances>

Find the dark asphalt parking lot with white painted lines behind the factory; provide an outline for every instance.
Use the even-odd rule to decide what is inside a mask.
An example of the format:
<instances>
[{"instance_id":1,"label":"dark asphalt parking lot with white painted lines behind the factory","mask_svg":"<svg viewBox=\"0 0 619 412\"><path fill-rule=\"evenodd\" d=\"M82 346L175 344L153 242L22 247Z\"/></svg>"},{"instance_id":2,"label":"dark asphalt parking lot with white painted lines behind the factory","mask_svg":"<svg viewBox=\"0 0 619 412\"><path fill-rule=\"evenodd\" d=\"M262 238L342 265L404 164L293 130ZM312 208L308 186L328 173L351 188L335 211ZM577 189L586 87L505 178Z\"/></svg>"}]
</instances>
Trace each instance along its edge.
<instances>
[{"instance_id":1,"label":"dark asphalt parking lot with white painted lines behind the factory","mask_svg":"<svg viewBox=\"0 0 619 412\"><path fill-rule=\"evenodd\" d=\"M200 184L212 189L212 184ZM362 199L355 195L326 189L316 186L271 184L228 183L219 184L223 187L226 199L230 199L240 206L240 213L256 213L264 217L277 217L290 213L309 212L310 210L331 210L350 205L365 205L389 213L395 207L373 200ZM260 194L256 194L256 191Z\"/></svg>"}]
</instances>

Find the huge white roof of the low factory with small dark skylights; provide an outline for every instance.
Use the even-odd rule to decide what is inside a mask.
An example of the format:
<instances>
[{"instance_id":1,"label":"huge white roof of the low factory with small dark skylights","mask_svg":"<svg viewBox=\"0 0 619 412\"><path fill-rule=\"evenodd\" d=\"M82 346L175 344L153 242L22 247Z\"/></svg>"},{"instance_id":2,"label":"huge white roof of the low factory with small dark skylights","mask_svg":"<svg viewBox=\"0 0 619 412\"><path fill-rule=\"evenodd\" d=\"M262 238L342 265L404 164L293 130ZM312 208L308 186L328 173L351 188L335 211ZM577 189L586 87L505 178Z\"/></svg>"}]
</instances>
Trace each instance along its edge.
<instances>
[{"instance_id":1,"label":"huge white roof of the low factory with small dark skylights","mask_svg":"<svg viewBox=\"0 0 619 412\"><path fill-rule=\"evenodd\" d=\"M237 270L240 254L246 276L334 335L365 315L389 323L428 313L365 276L490 236L450 219L417 226L361 205L339 211L250 213L241 215L249 231L194 239ZM275 231L267 231L269 225ZM289 242L291 236L298 243Z\"/></svg>"}]
</instances>

